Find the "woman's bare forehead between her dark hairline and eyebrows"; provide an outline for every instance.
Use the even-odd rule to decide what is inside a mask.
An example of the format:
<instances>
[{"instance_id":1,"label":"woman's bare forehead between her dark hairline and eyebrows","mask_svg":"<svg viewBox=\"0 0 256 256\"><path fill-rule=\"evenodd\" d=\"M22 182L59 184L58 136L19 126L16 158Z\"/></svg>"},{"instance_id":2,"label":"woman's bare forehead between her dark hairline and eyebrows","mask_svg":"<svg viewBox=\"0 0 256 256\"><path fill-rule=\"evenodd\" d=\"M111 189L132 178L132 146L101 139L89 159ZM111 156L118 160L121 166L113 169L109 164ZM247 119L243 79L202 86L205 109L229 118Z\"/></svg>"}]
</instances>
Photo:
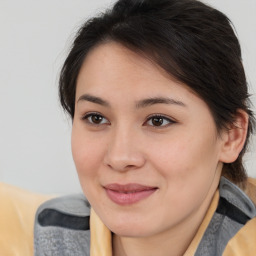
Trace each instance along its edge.
<instances>
[{"instance_id":1,"label":"woman's bare forehead between her dark hairline and eyebrows","mask_svg":"<svg viewBox=\"0 0 256 256\"><path fill-rule=\"evenodd\" d=\"M146 92L150 89L152 93L161 93L174 85L186 89L184 93L193 93L149 58L115 42L91 50L77 79L78 92L81 88L93 91L111 88L112 92L120 89Z\"/></svg>"}]
</instances>

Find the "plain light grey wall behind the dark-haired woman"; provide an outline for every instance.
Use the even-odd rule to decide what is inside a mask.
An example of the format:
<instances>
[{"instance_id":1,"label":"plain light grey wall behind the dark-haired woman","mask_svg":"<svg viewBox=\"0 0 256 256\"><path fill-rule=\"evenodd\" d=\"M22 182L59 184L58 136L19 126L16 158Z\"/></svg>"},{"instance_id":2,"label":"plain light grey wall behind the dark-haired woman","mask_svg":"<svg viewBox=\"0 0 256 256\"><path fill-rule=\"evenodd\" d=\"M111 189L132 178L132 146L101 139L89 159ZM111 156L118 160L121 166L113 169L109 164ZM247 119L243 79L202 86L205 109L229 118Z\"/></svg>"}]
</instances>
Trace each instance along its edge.
<instances>
[{"instance_id":1,"label":"plain light grey wall behind the dark-haired woman","mask_svg":"<svg viewBox=\"0 0 256 256\"><path fill-rule=\"evenodd\" d=\"M80 191L70 149L71 122L58 103L57 79L79 25L111 2L0 0L0 181L40 193ZM255 94L256 1L204 2L233 21ZM255 148L246 156L254 177L255 156Z\"/></svg>"}]
</instances>

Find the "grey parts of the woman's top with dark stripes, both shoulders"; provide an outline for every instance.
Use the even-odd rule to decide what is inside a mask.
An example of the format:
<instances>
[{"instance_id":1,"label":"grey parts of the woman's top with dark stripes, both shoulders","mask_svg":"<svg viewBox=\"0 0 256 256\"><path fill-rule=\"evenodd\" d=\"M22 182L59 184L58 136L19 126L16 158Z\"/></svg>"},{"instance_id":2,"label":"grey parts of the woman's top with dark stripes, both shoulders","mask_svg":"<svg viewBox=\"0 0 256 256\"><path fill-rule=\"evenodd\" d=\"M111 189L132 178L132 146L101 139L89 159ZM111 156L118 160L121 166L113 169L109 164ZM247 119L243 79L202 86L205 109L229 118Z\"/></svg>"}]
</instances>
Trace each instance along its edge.
<instances>
[{"instance_id":1,"label":"grey parts of the woman's top with dark stripes, both shoulders","mask_svg":"<svg viewBox=\"0 0 256 256\"><path fill-rule=\"evenodd\" d=\"M221 178L219 191L218 207L195 256L221 256L228 241L256 216L250 198L226 178ZM89 220L90 204L83 195L45 202L36 214L34 255L89 256Z\"/></svg>"}]
</instances>

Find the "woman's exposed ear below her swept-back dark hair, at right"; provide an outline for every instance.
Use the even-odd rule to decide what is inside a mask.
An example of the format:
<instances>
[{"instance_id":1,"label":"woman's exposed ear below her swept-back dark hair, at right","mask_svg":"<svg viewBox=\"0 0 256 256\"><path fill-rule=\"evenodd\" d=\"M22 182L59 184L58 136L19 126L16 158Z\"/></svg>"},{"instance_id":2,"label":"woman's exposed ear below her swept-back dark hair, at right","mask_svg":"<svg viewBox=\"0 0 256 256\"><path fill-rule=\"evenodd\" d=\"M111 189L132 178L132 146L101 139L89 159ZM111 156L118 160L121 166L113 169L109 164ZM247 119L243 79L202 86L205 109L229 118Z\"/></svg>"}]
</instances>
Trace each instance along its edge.
<instances>
[{"instance_id":1,"label":"woman's exposed ear below her swept-back dark hair, at right","mask_svg":"<svg viewBox=\"0 0 256 256\"><path fill-rule=\"evenodd\" d=\"M223 163L234 162L243 149L248 129L248 114L239 109L235 121L228 130L224 130L222 138L222 150L220 161Z\"/></svg>"}]
</instances>

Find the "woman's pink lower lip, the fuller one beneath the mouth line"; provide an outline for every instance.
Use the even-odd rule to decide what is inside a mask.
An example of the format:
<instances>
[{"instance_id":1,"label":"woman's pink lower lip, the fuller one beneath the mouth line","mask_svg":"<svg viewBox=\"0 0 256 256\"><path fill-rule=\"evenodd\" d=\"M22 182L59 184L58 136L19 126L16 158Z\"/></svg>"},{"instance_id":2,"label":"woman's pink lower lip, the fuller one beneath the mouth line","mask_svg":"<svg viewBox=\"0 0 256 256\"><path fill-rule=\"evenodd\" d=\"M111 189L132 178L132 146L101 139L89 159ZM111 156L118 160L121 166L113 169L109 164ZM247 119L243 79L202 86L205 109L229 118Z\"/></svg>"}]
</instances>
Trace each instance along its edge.
<instances>
[{"instance_id":1,"label":"woman's pink lower lip, the fuller one beneath the mouth line","mask_svg":"<svg viewBox=\"0 0 256 256\"><path fill-rule=\"evenodd\" d=\"M114 190L106 189L108 197L116 204L129 205L135 204L149 196L151 196L157 189L142 190L133 193L122 193Z\"/></svg>"}]
</instances>

